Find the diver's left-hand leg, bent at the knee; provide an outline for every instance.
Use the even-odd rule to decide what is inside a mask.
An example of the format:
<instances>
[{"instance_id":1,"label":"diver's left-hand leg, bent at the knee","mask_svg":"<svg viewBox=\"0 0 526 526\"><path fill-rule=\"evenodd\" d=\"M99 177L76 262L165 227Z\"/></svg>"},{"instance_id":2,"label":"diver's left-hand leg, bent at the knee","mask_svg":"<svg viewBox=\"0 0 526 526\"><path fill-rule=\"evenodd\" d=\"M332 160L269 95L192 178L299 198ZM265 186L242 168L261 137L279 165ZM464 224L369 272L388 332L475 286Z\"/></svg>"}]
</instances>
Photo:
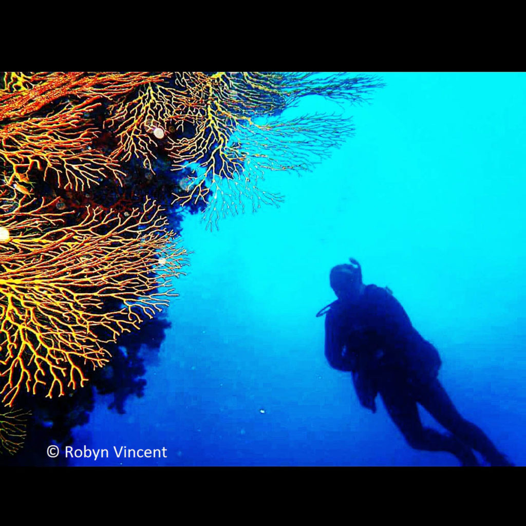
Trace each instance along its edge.
<instances>
[{"instance_id":1,"label":"diver's left-hand leg, bent at the knee","mask_svg":"<svg viewBox=\"0 0 526 526\"><path fill-rule=\"evenodd\" d=\"M424 428L418 414L417 402L402 382L382 382L380 396L392 421L414 449L448 451L462 466L478 466L477 457L458 439L431 428Z\"/></svg>"}]
</instances>

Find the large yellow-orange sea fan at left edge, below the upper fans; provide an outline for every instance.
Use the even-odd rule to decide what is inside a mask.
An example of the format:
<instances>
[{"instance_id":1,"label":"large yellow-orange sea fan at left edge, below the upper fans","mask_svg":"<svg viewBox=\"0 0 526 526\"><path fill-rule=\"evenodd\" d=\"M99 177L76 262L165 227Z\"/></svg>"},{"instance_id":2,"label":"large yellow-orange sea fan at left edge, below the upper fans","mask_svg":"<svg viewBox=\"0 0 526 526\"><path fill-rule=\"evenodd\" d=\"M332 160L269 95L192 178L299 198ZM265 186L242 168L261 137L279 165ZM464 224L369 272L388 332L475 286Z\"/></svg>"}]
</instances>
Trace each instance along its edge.
<instances>
[{"instance_id":1,"label":"large yellow-orange sea fan at left edge, below the upper fans","mask_svg":"<svg viewBox=\"0 0 526 526\"><path fill-rule=\"evenodd\" d=\"M72 225L55 204L6 188L0 197L0 395L10 406L24 386L48 397L82 386L86 368L108 361L105 342L176 296L170 278L186 264L151 200L127 216L88 208Z\"/></svg>"}]
</instances>

